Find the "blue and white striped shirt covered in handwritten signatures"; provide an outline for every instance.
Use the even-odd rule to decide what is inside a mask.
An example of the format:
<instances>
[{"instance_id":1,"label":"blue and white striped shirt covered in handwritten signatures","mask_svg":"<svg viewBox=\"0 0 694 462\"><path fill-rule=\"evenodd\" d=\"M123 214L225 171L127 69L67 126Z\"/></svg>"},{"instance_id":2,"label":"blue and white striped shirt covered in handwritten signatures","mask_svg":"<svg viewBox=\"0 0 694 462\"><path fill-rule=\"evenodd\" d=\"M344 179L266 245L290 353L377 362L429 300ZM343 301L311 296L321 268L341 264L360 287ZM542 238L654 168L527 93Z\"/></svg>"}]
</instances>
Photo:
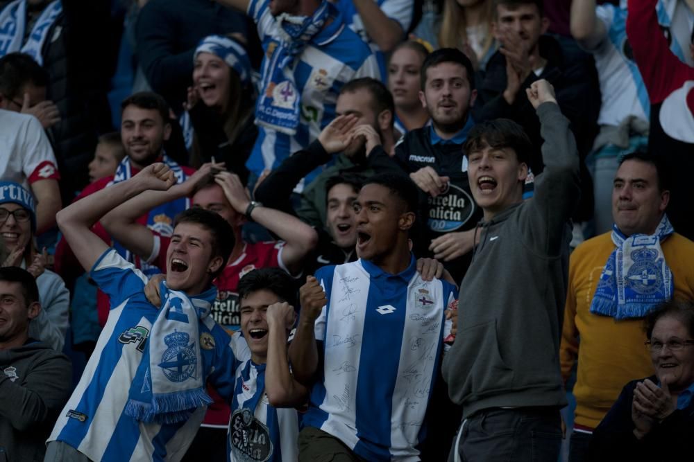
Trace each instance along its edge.
<instances>
[{"instance_id":1,"label":"blue and white striped shirt covered in handwritten signatures","mask_svg":"<svg viewBox=\"0 0 694 462\"><path fill-rule=\"evenodd\" d=\"M419 460L455 287L423 281L414 258L400 274L357 260L323 267L316 278L328 296L315 326L325 362L303 425L368 461Z\"/></svg>"}]
</instances>

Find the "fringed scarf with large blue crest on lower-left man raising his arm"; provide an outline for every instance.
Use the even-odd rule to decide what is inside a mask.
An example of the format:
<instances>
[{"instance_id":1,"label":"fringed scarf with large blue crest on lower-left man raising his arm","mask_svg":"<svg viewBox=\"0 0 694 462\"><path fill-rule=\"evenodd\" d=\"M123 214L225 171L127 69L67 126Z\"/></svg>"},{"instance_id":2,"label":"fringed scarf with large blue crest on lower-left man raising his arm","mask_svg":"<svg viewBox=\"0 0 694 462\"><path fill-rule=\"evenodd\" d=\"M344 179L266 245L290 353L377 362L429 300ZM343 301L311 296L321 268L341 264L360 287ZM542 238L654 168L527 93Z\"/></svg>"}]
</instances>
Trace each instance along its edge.
<instances>
[{"instance_id":1,"label":"fringed scarf with large blue crest on lower-left man raising his arm","mask_svg":"<svg viewBox=\"0 0 694 462\"><path fill-rule=\"evenodd\" d=\"M205 392L199 323L210 315L217 288L190 299L160 285L162 308L130 385L125 412L143 422L176 423L212 403Z\"/></svg>"}]
</instances>

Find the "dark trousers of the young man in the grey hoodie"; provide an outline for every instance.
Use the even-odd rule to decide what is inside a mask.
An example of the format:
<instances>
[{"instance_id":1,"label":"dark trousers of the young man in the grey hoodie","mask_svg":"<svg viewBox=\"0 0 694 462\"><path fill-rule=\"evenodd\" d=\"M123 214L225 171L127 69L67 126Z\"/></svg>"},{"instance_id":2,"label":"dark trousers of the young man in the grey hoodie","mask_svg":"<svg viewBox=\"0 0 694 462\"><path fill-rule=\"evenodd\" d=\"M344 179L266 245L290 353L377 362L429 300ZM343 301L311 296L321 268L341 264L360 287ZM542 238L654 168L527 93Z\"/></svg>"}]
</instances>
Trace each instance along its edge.
<instances>
[{"instance_id":1,"label":"dark trousers of the young man in the grey hoodie","mask_svg":"<svg viewBox=\"0 0 694 462\"><path fill-rule=\"evenodd\" d=\"M448 462L557 462L560 450L559 409L484 409L463 421Z\"/></svg>"}]
</instances>

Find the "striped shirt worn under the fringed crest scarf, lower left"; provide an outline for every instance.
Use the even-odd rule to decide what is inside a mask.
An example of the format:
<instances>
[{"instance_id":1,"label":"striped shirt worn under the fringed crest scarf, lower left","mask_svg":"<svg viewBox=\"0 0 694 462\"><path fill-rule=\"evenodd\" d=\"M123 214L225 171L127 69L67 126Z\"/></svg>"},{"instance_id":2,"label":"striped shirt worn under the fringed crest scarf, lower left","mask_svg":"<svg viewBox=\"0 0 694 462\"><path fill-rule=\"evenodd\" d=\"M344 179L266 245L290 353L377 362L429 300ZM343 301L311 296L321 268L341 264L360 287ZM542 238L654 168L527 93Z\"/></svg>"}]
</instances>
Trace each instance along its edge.
<instances>
[{"instance_id":1,"label":"striped shirt worn under the fringed crest scarf, lower left","mask_svg":"<svg viewBox=\"0 0 694 462\"><path fill-rule=\"evenodd\" d=\"M144 296L146 276L114 249L97 260L90 276L110 296L112 308L85 372L48 441L63 441L94 461L180 460L198 431L205 407L196 409L188 420L164 425L143 423L124 413L130 385L158 314ZM211 303L216 294L212 287L192 299ZM230 396L237 364L250 357L248 345L232 341L209 316L198 329L203 374L209 375L223 396Z\"/></svg>"}]
</instances>

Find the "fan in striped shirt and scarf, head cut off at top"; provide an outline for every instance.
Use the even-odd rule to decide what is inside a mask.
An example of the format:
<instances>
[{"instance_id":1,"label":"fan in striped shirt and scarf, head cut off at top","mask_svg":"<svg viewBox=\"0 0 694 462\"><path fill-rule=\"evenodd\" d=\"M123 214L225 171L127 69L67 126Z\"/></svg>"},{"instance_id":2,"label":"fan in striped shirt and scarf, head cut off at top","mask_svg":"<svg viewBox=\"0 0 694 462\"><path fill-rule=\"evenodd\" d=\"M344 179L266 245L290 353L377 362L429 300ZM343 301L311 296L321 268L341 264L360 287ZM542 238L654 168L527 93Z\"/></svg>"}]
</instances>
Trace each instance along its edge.
<instances>
[{"instance_id":1,"label":"fan in striped shirt and scarf, head cut off at top","mask_svg":"<svg viewBox=\"0 0 694 462\"><path fill-rule=\"evenodd\" d=\"M343 85L360 77L380 78L371 48L345 26L332 2L217 1L253 18L265 52L255 107L259 134L246 163L255 175L318 138L335 118Z\"/></svg>"}]
</instances>

